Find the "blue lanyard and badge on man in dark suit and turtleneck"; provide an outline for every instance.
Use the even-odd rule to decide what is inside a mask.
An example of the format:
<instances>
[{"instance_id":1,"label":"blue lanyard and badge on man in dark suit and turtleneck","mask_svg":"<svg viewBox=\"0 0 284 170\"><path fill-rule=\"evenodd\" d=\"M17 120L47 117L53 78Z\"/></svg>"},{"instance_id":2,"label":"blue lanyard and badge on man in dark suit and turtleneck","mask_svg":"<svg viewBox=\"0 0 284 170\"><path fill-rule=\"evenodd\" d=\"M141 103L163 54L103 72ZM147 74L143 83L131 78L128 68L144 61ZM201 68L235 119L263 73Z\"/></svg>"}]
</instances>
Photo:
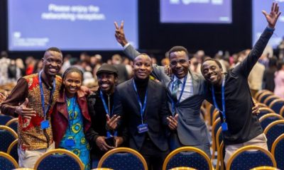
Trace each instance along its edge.
<instances>
[{"instance_id":1,"label":"blue lanyard and badge on man in dark suit and turtleneck","mask_svg":"<svg viewBox=\"0 0 284 170\"><path fill-rule=\"evenodd\" d=\"M137 91L137 87L136 87L134 79L133 79L133 88L136 91L138 103L139 103L139 106L140 106L141 124L137 126L138 133L148 132L148 124L143 123L143 115L144 115L144 112L145 112L145 109L146 109L146 103L147 103L148 87L146 89L146 94L145 94L143 105L142 105L141 99L138 95L138 91Z\"/></svg>"}]
</instances>

